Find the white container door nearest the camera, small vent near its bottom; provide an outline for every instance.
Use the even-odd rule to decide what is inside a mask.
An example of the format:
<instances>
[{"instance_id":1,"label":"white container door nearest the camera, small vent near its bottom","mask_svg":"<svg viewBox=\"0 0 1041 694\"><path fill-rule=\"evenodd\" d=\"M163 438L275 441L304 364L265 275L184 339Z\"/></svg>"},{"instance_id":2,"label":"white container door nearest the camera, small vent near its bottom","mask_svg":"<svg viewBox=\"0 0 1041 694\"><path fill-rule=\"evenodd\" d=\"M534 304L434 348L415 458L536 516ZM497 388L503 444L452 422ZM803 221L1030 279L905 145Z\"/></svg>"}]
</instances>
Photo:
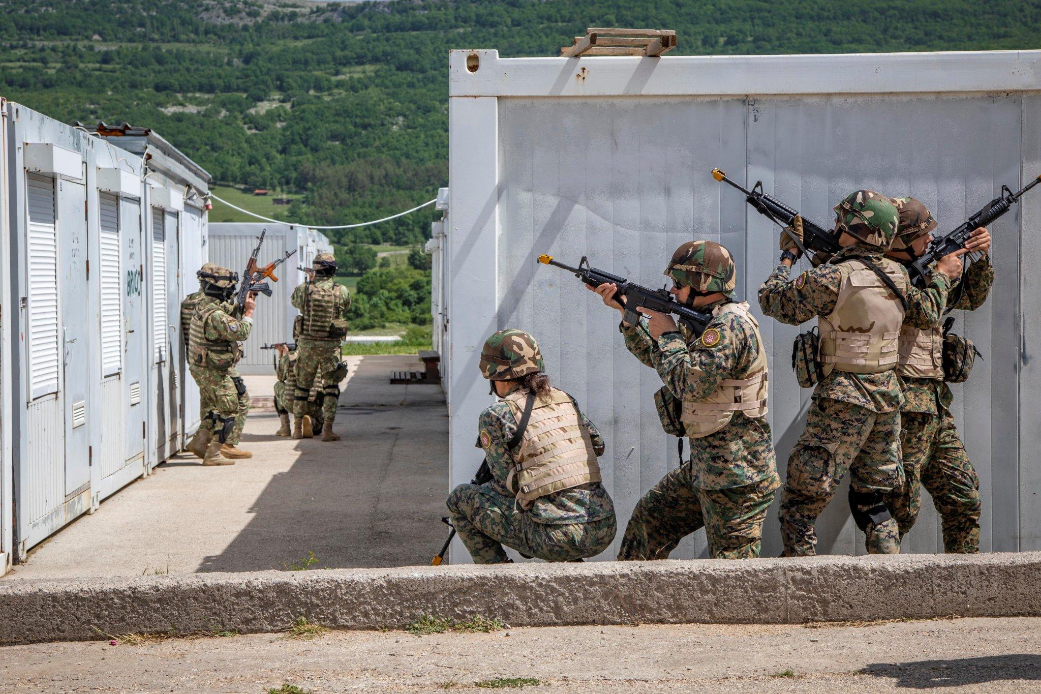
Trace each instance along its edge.
<instances>
[{"instance_id":1,"label":"white container door nearest the camera, small vent near its bottom","mask_svg":"<svg viewBox=\"0 0 1041 694\"><path fill-rule=\"evenodd\" d=\"M86 187L58 181L58 245L61 248L61 340L65 370L66 494L91 484L90 302L86 278Z\"/></svg>"}]
</instances>

